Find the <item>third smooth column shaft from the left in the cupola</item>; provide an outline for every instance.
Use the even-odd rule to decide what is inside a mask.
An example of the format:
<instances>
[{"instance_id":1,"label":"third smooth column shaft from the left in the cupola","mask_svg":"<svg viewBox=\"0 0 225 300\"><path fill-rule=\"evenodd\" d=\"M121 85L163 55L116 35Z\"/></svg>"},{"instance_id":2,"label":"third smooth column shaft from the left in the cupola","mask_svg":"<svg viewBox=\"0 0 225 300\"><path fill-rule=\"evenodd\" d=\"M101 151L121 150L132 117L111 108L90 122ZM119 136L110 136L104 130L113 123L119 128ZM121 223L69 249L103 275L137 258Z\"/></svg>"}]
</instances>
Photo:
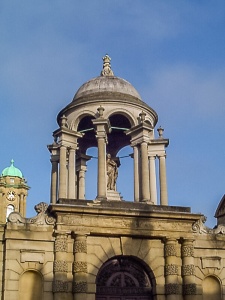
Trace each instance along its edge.
<instances>
[{"instance_id":1,"label":"third smooth column shaft from the left in the cupola","mask_svg":"<svg viewBox=\"0 0 225 300\"><path fill-rule=\"evenodd\" d=\"M69 165L68 165L68 198L75 199L75 172L76 172L76 151L69 149Z\"/></svg>"}]
</instances>

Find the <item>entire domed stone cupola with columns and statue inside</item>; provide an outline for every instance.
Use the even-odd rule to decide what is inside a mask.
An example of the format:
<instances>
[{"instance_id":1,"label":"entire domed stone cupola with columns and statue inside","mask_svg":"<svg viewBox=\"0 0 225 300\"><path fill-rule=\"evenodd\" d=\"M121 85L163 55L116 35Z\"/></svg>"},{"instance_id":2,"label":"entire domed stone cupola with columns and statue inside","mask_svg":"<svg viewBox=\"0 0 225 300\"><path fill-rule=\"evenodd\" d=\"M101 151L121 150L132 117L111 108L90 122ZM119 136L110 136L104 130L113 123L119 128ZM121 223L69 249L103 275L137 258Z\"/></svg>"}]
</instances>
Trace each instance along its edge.
<instances>
[{"instance_id":1,"label":"entire domed stone cupola with columns and statue inside","mask_svg":"<svg viewBox=\"0 0 225 300\"><path fill-rule=\"evenodd\" d=\"M120 165L117 155L130 145L134 199L126 200L157 204L155 159L158 158L159 202L167 205L165 147L169 141L164 139L162 128L155 138L157 113L128 81L114 75L110 61L105 55L100 76L85 82L72 102L58 114L59 128L53 133L54 143L48 146L52 162L51 202L62 198L85 199L90 147L98 149L96 199L121 200L115 185Z\"/></svg>"}]
</instances>

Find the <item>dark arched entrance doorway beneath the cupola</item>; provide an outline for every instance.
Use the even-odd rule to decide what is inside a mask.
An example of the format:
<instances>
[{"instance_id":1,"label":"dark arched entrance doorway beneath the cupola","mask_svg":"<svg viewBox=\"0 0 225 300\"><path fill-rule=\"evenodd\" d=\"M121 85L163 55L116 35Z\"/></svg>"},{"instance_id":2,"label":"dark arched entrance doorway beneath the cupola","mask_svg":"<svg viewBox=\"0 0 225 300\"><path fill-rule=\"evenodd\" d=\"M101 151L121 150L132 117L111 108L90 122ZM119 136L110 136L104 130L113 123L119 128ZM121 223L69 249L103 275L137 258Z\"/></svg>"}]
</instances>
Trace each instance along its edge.
<instances>
[{"instance_id":1,"label":"dark arched entrance doorway beneath the cupola","mask_svg":"<svg viewBox=\"0 0 225 300\"><path fill-rule=\"evenodd\" d=\"M152 283L146 269L132 256L108 260L96 278L96 300L152 300Z\"/></svg>"}]
</instances>

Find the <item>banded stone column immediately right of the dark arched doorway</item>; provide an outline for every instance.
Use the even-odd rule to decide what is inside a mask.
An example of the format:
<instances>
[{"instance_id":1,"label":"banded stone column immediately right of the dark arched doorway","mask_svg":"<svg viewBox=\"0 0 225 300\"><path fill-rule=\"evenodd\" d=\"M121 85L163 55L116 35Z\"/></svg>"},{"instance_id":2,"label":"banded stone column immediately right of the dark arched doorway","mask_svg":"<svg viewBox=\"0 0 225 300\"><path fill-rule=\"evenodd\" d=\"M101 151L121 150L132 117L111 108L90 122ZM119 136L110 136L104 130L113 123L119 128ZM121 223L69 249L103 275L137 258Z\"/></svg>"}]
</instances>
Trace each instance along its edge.
<instances>
[{"instance_id":1,"label":"banded stone column immediately right of the dark arched doorway","mask_svg":"<svg viewBox=\"0 0 225 300\"><path fill-rule=\"evenodd\" d=\"M167 300L180 299L180 286L178 284L177 241L165 240L165 294Z\"/></svg>"}]
</instances>

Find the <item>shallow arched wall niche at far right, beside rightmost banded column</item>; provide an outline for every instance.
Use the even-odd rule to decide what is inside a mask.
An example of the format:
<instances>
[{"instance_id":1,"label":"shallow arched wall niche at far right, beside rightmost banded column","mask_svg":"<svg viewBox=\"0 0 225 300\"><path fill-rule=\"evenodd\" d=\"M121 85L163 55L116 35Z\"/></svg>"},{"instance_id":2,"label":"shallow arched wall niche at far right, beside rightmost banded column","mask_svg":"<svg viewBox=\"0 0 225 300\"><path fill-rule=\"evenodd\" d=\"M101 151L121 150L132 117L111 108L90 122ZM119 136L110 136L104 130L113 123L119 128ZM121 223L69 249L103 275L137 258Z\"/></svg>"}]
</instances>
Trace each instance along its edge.
<instances>
[{"instance_id":1,"label":"shallow arched wall niche at far right, beside rightmost banded column","mask_svg":"<svg viewBox=\"0 0 225 300\"><path fill-rule=\"evenodd\" d=\"M203 300L222 300L221 282L216 276L207 276L202 282Z\"/></svg>"}]
</instances>

